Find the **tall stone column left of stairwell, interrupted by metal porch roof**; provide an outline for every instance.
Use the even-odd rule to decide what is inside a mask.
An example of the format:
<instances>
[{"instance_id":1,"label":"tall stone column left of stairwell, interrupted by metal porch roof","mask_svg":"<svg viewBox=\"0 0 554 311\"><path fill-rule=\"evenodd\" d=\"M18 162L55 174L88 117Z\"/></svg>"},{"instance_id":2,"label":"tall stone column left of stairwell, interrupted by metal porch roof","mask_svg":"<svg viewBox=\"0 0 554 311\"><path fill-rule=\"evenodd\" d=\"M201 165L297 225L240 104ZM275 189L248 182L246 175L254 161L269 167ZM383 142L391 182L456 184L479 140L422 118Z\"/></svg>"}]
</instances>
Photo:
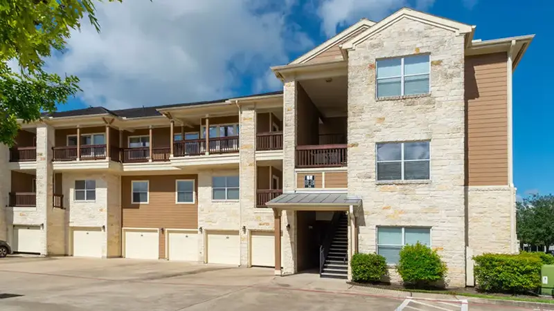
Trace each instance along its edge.
<instances>
[{"instance_id":1,"label":"tall stone column left of stairwell, interrupted by metal porch roof","mask_svg":"<svg viewBox=\"0 0 554 311\"><path fill-rule=\"evenodd\" d=\"M285 81L283 92L283 193L291 193L296 161L296 81ZM281 243L282 274L293 274L296 272L296 212L285 211L281 219L285 228Z\"/></svg>"}]
</instances>

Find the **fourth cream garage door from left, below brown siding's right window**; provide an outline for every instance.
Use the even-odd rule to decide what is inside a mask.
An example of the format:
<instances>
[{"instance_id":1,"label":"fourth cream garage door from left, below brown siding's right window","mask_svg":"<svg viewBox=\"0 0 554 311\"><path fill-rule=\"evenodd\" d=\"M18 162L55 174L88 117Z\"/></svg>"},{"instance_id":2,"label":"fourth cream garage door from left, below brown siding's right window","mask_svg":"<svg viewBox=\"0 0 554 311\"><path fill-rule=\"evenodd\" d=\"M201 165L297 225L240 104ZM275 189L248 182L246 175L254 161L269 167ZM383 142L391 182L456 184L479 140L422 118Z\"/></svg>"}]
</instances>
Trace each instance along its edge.
<instances>
[{"instance_id":1,"label":"fourth cream garage door from left, below brown siding's right window","mask_svg":"<svg viewBox=\"0 0 554 311\"><path fill-rule=\"evenodd\" d=\"M168 230L170 261L198 261L198 233Z\"/></svg>"}]
</instances>

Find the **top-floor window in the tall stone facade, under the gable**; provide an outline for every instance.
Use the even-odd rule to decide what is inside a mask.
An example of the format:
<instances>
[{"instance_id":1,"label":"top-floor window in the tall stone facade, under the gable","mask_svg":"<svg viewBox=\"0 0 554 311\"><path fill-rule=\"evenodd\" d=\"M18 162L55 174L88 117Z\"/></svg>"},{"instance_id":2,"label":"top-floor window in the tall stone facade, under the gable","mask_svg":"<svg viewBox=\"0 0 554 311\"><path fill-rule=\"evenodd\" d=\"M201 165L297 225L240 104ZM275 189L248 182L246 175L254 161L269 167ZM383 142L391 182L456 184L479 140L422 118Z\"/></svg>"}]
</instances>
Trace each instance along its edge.
<instances>
[{"instance_id":1,"label":"top-floor window in the tall stone facade, under the gable","mask_svg":"<svg viewBox=\"0 0 554 311\"><path fill-rule=\"evenodd\" d=\"M429 94L429 55L377 60L377 97Z\"/></svg>"}]
</instances>

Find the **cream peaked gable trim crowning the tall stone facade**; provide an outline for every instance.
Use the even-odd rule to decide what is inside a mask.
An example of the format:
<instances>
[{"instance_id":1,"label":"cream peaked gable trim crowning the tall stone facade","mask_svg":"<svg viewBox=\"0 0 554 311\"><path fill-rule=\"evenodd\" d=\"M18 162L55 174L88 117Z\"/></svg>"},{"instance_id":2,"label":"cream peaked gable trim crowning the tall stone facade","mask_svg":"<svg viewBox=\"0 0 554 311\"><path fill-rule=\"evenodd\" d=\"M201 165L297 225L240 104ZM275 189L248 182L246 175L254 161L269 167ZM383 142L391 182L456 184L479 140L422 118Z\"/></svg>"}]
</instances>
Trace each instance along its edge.
<instances>
[{"instance_id":1,"label":"cream peaked gable trim crowning the tall stone facade","mask_svg":"<svg viewBox=\"0 0 554 311\"><path fill-rule=\"evenodd\" d=\"M420 21L422 23L427 23L432 26L450 30L452 32L456 32L456 34L471 33L474 30L473 26L467 25L466 23L460 23L458 21L453 21L452 19L445 19L444 17L437 17L435 15L412 10L410 8L401 8L393 14L388 15L388 17L385 17L382 21L379 21L375 25L371 26L364 32L361 32L361 34L352 38L350 41L342 44L341 49L351 50L361 42L366 41L366 39L372 37L373 35L393 25L393 23L396 23L397 21L400 21L404 18L413 19L415 21Z\"/></svg>"}]
</instances>

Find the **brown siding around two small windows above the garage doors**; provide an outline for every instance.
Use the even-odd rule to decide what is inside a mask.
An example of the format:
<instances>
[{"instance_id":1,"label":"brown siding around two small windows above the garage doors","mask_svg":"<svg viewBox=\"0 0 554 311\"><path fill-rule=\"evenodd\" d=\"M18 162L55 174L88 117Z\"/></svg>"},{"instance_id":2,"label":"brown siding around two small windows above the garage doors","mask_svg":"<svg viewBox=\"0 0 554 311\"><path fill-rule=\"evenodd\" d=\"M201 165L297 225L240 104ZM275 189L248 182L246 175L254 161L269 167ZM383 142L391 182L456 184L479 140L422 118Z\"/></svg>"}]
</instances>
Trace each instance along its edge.
<instances>
[{"instance_id":1,"label":"brown siding around two small windows above the garage doors","mask_svg":"<svg viewBox=\"0 0 554 311\"><path fill-rule=\"evenodd\" d=\"M195 180L195 204L175 203L175 180ZM132 180L148 180L148 204L131 203ZM197 229L198 178L196 175L122 176L121 207L123 227ZM165 232L165 231L164 231ZM166 258L166 236L160 232L159 257Z\"/></svg>"}]
</instances>

